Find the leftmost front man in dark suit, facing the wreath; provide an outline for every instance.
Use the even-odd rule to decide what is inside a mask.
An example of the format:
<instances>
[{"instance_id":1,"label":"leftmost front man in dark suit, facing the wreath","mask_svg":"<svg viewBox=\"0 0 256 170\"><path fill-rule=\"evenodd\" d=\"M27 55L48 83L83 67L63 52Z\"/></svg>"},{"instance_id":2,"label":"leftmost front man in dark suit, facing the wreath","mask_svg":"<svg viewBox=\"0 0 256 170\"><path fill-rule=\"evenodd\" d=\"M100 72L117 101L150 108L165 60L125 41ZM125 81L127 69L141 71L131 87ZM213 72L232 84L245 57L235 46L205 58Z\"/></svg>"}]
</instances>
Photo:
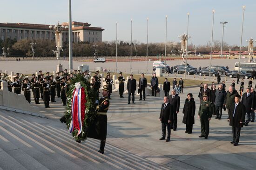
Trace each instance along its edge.
<instances>
[{"instance_id":1,"label":"leftmost front man in dark suit, facing the wreath","mask_svg":"<svg viewBox=\"0 0 256 170\"><path fill-rule=\"evenodd\" d=\"M173 121L173 112L172 112L172 106L168 101L168 97L165 96L163 98L163 104L161 107L161 112L159 116L159 120L162 123L162 138L159 140L165 140L165 132L166 132L166 127L167 127L167 139L166 142L170 141L171 138L171 125L170 123Z\"/></svg>"}]
</instances>

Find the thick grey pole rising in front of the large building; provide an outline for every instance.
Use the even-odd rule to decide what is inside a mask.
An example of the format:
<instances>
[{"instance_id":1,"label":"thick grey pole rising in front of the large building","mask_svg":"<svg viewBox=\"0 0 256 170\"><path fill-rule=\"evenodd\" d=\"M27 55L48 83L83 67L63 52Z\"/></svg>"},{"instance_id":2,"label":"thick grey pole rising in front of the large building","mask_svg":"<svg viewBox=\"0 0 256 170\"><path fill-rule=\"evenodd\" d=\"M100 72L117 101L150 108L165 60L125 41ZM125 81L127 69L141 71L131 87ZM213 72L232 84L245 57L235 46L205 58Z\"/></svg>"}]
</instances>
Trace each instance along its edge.
<instances>
[{"instance_id":1,"label":"thick grey pole rising in front of the large building","mask_svg":"<svg viewBox=\"0 0 256 170\"><path fill-rule=\"evenodd\" d=\"M72 19L71 19L71 0L68 0L68 58L69 69L73 69L73 52L72 52Z\"/></svg>"}]
</instances>

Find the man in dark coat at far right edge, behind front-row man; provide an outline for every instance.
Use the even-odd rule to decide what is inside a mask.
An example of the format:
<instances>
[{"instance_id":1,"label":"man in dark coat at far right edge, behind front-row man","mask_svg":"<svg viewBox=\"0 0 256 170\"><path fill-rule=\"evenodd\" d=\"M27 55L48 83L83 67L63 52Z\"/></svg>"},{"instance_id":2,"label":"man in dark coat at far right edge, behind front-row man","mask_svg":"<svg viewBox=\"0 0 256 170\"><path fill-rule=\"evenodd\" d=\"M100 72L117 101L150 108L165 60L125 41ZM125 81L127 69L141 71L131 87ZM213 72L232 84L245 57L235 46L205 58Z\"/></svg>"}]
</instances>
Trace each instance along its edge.
<instances>
[{"instance_id":1,"label":"man in dark coat at far right edge, behind front-row man","mask_svg":"<svg viewBox=\"0 0 256 170\"><path fill-rule=\"evenodd\" d=\"M251 110L253 110L252 99L253 99L253 95L250 92L250 88L246 88L246 92L243 94L243 98L241 101L245 106L245 113L247 115L244 126L248 126L249 121L251 120Z\"/></svg>"}]
</instances>

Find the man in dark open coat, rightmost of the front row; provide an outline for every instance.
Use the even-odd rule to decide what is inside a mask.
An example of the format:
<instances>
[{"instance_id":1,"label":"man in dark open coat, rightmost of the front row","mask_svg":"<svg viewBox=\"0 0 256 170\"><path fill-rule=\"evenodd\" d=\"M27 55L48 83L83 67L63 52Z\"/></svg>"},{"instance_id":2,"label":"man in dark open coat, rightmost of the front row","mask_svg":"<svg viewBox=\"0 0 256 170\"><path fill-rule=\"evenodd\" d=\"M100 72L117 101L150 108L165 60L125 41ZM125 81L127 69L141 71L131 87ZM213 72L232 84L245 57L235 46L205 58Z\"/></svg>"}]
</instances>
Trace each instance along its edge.
<instances>
[{"instance_id":1,"label":"man in dark open coat, rightmost of the front row","mask_svg":"<svg viewBox=\"0 0 256 170\"><path fill-rule=\"evenodd\" d=\"M238 145L241 127L245 118L245 106L240 102L241 96L236 94L235 103L232 103L229 112L229 125L232 126L233 140L230 142L234 146Z\"/></svg>"}]
</instances>

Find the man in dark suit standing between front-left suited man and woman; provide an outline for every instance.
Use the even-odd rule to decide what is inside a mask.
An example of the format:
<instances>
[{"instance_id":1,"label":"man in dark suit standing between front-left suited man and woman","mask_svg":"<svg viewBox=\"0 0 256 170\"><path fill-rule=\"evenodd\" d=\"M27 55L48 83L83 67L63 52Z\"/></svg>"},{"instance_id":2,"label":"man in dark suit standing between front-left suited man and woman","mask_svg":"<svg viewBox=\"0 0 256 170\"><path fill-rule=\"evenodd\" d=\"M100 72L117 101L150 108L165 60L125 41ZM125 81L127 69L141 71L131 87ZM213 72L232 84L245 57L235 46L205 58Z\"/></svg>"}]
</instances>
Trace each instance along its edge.
<instances>
[{"instance_id":1,"label":"man in dark suit standing between front-left suited man and woman","mask_svg":"<svg viewBox=\"0 0 256 170\"><path fill-rule=\"evenodd\" d=\"M173 121L171 122L171 129L174 131L177 129L177 114L180 110L180 96L176 94L176 90L172 90L172 94L169 96L169 103L172 105Z\"/></svg>"}]
</instances>

